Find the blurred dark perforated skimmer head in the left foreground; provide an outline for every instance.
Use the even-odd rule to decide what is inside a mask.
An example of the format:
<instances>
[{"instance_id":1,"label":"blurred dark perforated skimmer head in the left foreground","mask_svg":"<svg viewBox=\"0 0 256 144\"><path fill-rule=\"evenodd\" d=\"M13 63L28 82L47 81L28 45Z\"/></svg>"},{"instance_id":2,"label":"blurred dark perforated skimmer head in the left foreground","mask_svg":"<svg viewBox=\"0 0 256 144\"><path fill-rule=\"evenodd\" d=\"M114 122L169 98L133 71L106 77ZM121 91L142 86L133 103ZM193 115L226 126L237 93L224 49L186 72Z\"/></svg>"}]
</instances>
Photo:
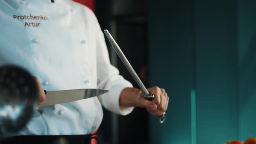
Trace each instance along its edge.
<instances>
[{"instance_id":1,"label":"blurred dark perforated skimmer head in the left foreground","mask_svg":"<svg viewBox=\"0 0 256 144\"><path fill-rule=\"evenodd\" d=\"M0 67L0 137L20 131L30 120L37 104L38 88L25 69Z\"/></svg>"}]
</instances>

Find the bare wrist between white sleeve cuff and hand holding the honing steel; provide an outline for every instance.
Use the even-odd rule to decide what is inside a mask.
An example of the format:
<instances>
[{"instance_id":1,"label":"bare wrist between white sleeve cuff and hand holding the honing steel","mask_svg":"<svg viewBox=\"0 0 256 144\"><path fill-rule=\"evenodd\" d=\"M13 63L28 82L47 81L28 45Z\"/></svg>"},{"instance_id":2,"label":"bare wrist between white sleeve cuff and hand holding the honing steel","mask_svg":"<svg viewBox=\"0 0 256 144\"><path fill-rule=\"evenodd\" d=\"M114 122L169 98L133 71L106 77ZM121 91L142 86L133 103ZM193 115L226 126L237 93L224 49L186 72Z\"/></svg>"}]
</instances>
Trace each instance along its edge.
<instances>
[{"instance_id":1,"label":"bare wrist between white sleeve cuff and hand holding the honing steel","mask_svg":"<svg viewBox=\"0 0 256 144\"><path fill-rule=\"evenodd\" d=\"M138 98L141 95L141 90L138 88L125 88L122 90L119 98L119 106L121 109L128 107L137 107Z\"/></svg>"}]
</instances>

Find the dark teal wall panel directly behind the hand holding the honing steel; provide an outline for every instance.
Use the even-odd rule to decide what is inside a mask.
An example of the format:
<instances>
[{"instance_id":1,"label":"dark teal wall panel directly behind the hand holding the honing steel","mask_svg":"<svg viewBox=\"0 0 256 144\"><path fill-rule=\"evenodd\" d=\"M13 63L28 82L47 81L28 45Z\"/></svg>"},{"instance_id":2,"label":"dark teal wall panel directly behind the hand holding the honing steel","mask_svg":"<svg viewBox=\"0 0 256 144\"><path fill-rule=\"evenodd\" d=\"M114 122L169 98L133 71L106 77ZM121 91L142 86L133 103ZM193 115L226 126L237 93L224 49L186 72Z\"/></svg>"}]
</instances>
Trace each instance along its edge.
<instances>
[{"instance_id":1,"label":"dark teal wall panel directly behind the hand holding the honing steel","mask_svg":"<svg viewBox=\"0 0 256 144\"><path fill-rule=\"evenodd\" d=\"M192 7L190 0L149 0L148 46L150 86L170 97L167 119L150 118L152 144L190 144L190 90L193 88Z\"/></svg>"}]
</instances>

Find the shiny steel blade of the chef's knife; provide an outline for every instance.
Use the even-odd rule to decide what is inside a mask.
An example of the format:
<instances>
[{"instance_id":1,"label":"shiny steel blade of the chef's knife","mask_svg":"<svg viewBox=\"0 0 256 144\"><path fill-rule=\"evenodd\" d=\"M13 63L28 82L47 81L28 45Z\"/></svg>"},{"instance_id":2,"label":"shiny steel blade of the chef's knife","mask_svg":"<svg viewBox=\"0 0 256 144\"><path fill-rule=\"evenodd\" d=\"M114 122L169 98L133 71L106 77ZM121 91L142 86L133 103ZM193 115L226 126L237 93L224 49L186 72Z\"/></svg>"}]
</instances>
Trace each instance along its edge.
<instances>
[{"instance_id":1,"label":"shiny steel blade of the chef's knife","mask_svg":"<svg viewBox=\"0 0 256 144\"><path fill-rule=\"evenodd\" d=\"M105 89L73 89L64 91L48 91L46 99L39 107L92 98L108 92Z\"/></svg>"}]
</instances>

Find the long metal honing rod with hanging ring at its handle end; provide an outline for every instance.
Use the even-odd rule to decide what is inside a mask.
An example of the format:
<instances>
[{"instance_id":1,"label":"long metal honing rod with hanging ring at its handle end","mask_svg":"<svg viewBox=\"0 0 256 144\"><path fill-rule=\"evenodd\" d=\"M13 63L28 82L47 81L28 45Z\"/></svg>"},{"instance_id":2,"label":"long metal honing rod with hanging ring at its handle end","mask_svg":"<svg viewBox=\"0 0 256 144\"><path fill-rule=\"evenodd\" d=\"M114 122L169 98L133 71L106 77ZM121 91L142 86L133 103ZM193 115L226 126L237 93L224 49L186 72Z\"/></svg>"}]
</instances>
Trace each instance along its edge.
<instances>
[{"instance_id":1,"label":"long metal honing rod with hanging ring at its handle end","mask_svg":"<svg viewBox=\"0 0 256 144\"><path fill-rule=\"evenodd\" d=\"M147 88L143 85L143 83L141 82L141 79L138 77L137 73L132 68L130 62L128 61L128 59L126 59L124 53L122 52L122 50L120 49L118 44L115 42L115 39L111 36L111 34L108 32L107 29L104 29L104 33L107 36L107 38L108 38L109 42L111 43L111 45L113 46L113 48L115 49L115 52L118 54L118 56L120 57L121 61L124 63L125 67L128 69L128 71L130 72L131 76L133 77L135 82L138 84L138 86L141 89L141 93L144 96L144 98L146 98L148 100L152 100L154 98L154 95L152 95L150 92L148 92ZM163 115L160 116L160 118L159 118L160 123L164 122L166 116L167 115L166 115L165 112L164 112Z\"/></svg>"}]
</instances>

